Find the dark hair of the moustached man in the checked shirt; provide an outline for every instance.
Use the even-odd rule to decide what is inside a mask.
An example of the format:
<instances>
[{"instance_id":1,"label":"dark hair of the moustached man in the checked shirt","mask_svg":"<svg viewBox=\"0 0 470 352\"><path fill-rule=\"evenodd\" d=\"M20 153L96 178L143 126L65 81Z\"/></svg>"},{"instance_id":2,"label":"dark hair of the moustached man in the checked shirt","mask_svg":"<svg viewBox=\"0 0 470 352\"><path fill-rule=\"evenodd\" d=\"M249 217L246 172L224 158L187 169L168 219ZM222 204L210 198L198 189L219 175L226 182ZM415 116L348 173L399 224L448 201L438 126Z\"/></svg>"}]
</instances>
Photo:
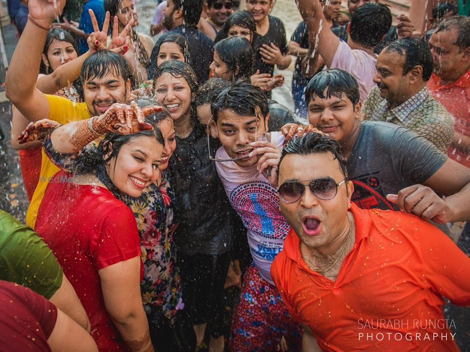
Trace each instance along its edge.
<instances>
[{"instance_id":1,"label":"dark hair of the moustached man in the checked shirt","mask_svg":"<svg viewBox=\"0 0 470 352\"><path fill-rule=\"evenodd\" d=\"M405 55L403 75L406 75L413 67L419 65L423 68L423 80L427 81L431 77L434 61L429 46L423 40L403 38L390 43L385 47L384 51L396 51L400 56Z\"/></svg>"}]
</instances>

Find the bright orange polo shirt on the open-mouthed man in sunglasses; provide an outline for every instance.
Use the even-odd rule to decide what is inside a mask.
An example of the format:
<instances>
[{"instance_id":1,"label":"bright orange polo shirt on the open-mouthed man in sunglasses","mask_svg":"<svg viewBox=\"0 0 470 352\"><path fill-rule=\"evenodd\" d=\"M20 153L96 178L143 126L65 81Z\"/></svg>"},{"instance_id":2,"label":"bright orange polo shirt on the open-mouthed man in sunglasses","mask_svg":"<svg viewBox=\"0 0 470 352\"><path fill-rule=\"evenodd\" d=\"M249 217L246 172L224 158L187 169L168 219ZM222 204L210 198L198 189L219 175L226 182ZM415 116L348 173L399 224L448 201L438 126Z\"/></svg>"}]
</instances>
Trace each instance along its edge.
<instances>
[{"instance_id":1,"label":"bright orange polo shirt on the open-mouthed man in sunglasses","mask_svg":"<svg viewBox=\"0 0 470 352\"><path fill-rule=\"evenodd\" d=\"M351 206L355 244L335 282L309 269L287 234L271 275L292 317L323 351L458 351L443 296L470 304L470 258L414 215Z\"/></svg>"}]
</instances>

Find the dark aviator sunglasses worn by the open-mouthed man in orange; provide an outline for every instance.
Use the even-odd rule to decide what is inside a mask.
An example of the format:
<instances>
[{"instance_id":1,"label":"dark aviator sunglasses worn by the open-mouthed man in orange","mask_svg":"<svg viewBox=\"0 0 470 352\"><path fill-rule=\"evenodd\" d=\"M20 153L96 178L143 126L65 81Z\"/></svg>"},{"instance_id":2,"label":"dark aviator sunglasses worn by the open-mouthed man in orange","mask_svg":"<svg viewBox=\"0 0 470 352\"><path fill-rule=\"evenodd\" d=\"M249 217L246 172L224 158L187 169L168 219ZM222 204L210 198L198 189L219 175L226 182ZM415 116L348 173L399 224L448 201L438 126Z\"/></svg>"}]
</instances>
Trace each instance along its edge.
<instances>
[{"instance_id":1,"label":"dark aviator sunglasses worn by the open-mouthed man in orange","mask_svg":"<svg viewBox=\"0 0 470 352\"><path fill-rule=\"evenodd\" d=\"M306 185L303 182L309 183ZM310 188L310 192L312 192L315 197L328 201L336 196L338 187L345 182L346 180L336 183L336 181L330 177L317 178L309 181L289 181L282 183L278 188L278 193L282 201L286 203L294 203L302 197L305 192L305 187L308 186Z\"/></svg>"}]
</instances>

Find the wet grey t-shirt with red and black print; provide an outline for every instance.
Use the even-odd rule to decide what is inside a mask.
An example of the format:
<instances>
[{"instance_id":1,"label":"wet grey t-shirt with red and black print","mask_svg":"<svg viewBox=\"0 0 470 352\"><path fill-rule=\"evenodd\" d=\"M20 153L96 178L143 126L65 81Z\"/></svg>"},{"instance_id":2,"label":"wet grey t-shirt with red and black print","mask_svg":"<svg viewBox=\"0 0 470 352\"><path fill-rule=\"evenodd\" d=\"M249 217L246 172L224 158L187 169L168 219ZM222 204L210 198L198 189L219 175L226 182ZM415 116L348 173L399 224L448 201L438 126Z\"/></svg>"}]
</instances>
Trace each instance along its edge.
<instances>
[{"instance_id":1,"label":"wet grey t-shirt with red and black print","mask_svg":"<svg viewBox=\"0 0 470 352\"><path fill-rule=\"evenodd\" d=\"M386 196L425 183L446 160L437 147L404 127L362 122L348 157L352 201L363 209L399 210Z\"/></svg>"}]
</instances>

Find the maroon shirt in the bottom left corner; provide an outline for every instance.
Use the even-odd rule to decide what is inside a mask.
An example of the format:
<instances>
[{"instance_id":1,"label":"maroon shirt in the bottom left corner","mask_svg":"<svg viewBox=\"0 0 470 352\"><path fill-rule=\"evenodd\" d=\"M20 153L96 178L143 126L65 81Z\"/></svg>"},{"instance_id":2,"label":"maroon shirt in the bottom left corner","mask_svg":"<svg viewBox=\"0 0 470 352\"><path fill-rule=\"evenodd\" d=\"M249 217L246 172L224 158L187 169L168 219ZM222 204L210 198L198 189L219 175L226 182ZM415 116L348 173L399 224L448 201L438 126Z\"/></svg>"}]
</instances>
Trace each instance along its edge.
<instances>
[{"instance_id":1,"label":"maroon shirt in the bottom left corner","mask_svg":"<svg viewBox=\"0 0 470 352\"><path fill-rule=\"evenodd\" d=\"M0 280L0 351L50 351L54 304L29 288Z\"/></svg>"}]
</instances>

